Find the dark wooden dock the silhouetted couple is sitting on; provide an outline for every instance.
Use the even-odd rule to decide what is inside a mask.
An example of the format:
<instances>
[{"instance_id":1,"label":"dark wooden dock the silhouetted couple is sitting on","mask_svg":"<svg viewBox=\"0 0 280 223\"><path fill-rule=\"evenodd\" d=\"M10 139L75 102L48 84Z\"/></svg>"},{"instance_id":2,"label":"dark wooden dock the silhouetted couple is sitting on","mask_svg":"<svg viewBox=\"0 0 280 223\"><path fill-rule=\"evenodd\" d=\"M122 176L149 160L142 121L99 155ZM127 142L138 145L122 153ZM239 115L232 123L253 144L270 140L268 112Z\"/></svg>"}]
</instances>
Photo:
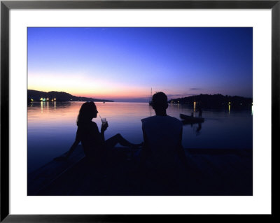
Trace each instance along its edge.
<instances>
[{"instance_id":1,"label":"dark wooden dock the silhouetted couple is sitting on","mask_svg":"<svg viewBox=\"0 0 280 223\"><path fill-rule=\"evenodd\" d=\"M81 146L67 161L45 164L28 175L29 196L253 195L252 150L186 149L188 170L173 178L139 173L133 156L116 148L114 161L87 164Z\"/></svg>"}]
</instances>

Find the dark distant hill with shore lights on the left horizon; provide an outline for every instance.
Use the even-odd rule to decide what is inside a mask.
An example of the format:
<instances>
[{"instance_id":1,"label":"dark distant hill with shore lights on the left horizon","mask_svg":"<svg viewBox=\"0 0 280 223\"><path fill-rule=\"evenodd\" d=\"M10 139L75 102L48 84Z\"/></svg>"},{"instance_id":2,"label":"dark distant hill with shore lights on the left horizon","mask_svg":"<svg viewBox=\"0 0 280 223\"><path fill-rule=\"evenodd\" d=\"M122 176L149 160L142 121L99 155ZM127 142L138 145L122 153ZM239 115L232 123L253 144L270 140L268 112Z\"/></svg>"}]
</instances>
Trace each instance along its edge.
<instances>
[{"instance_id":1,"label":"dark distant hill with shore lights on the left horizon","mask_svg":"<svg viewBox=\"0 0 280 223\"><path fill-rule=\"evenodd\" d=\"M27 99L28 101L41 101L41 99L49 99L49 101L106 101L113 102L105 99L92 99L83 96L73 96L66 92L40 92L33 89L27 89Z\"/></svg>"}]
</instances>

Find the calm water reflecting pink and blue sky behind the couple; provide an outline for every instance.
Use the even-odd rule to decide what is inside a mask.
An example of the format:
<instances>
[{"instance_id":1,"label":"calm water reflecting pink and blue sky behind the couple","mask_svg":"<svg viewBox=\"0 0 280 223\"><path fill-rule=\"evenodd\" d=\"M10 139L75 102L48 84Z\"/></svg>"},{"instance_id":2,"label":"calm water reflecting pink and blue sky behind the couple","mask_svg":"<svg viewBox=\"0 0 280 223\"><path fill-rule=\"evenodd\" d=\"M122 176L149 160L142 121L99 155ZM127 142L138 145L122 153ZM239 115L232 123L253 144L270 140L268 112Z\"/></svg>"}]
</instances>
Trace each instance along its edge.
<instances>
[{"instance_id":1,"label":"calm water reflecting pink and blue sky behind the couple","mask_svg":"<svg viewBox=\"0 0 280 223\"><path fill-rule=\"evenodd\" d=\"M29 173L71 147L82 103L35 102L28 106ZM148 103L96 104L99 115L109 122L105 138L120 133L132 143L141 143L141 119L155 115ZM167 114L177 118L180 113L190 115L193 111L192 106L169 105L167 108ZM183 126L184 148L253 148L252 110L204 110L202 116L205 121L200 131L197 131L198 124ZM100 118L93 121L100 129Z\"/></svg>"}]
</instances>

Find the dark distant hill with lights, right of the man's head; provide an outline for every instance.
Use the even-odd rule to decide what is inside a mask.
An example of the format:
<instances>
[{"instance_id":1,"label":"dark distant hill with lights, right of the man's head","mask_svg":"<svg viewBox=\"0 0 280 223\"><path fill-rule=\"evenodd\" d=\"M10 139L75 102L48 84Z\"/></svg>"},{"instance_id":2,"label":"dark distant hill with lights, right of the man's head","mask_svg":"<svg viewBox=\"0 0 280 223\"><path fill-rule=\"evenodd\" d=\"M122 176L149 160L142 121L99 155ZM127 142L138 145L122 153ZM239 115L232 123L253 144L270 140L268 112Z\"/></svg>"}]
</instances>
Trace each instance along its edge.
<instances>
[{"instance_id":1,"label":"dark distant hill with lights, right of the man's head","mask_svg":"<svg viewBox=\"0 0 280 223\"><path fill-rule=\"evenodd\" d=\"M244 107L251 106L253 99L242 96L223 96L222 94L200 94L179 99L171 99L169 103L193 104L204 108L228 106Z\"/></svg>"}]
</instances>

